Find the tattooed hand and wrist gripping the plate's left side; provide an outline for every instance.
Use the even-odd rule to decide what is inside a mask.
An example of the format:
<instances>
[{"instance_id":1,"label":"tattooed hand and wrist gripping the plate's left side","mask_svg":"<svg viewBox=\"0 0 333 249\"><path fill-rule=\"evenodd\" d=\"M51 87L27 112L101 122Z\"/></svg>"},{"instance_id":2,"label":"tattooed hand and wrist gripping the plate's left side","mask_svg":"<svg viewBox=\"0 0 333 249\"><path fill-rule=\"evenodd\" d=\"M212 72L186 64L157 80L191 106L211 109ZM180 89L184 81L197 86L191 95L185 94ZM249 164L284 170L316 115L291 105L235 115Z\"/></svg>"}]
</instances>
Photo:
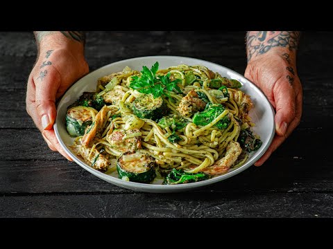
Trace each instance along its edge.
<instances>
[{"instance_id":1,"label":"tattooed hand and wrist gripping the plate's left side","mask_svg":"<svg viewBox=\"0 0 333 249\"><path fill-rule=\"evenodd\" d=\"M37 60L28 78L26 111L50 149L71 160L53 130L56 100L89 72L85 61L85 34L81 31L35 31Z\"/></svg>"}]
</instances>

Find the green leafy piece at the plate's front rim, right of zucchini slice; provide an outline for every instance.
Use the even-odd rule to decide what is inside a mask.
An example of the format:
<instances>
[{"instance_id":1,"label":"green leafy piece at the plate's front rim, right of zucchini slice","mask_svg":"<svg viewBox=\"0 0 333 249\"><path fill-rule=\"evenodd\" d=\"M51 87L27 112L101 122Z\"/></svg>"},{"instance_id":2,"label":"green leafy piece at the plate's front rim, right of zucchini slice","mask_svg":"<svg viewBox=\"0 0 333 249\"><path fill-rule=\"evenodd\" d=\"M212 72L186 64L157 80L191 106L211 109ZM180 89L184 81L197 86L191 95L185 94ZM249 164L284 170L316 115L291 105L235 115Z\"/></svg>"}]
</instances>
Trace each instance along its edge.
<instances>
[{"instance_id":1,"label":"green leafy piece at the plate's front rim, right of zucchini slice","mask_svg":"<svg viewBox=\"0 0 333 249\"><path fill-rule=\"evenodd\" d=\"M182 169L172 169L171 172L164 178L162 184L184 184L184 183L196 183L198 181L204 181L209 179L207 174L200 173L186 173Z\"/></svg>"}]
</instances>

